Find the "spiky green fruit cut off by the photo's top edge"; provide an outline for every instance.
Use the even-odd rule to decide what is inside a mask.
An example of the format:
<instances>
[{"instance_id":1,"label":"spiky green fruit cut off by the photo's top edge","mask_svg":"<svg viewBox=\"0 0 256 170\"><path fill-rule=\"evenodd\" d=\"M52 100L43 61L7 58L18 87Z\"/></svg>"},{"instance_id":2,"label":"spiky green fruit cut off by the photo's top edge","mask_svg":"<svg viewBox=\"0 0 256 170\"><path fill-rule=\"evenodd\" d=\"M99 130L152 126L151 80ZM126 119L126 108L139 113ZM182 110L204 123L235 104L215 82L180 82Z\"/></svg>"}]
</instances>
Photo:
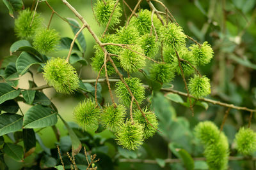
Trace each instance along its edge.
<instances>
[{"instance_id":1,"label":"spiky green fruit cut off by the photo's top edge","mask_svg":"<svg viewBox=\"0 0 256 170\"><path fill-rule=\"evenodd\" d=\"M105 0L105 2L106 4L104 1L97 0L97 3L93 6L93 10L95 11L96 20L100 25L105 27L108 24L111 13L115 8L109 23L109 27L112 28L114 25L119 24L120 17L122 16L122 10L120 8L120 3L117 3L115 6L116 0Z\"/></svg>"}]
</instances>

